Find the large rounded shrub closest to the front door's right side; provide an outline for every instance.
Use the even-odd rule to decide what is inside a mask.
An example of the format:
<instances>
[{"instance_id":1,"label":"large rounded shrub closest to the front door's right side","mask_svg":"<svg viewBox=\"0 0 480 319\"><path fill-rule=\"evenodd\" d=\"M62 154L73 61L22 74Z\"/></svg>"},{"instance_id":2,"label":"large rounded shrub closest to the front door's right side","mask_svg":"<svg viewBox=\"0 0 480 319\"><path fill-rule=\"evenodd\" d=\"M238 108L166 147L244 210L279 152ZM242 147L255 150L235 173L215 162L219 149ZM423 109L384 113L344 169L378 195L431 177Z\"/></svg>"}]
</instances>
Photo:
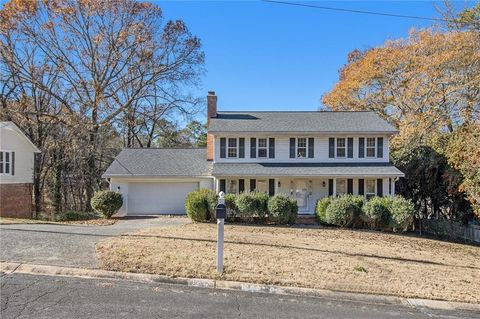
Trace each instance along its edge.
<instances>
[{"instance_id":1,"label":"large rounded shrub closest to the front door's right side","mask_svg":"<svg viewBox=\"0 0 480 319\"><path fill-rule=\"evenodd\" d=\"M345 194L333 198L325 211L325 221L341 227L352 226L358 220L362 206L363 196Z\"/></svg>"}]
</instances>

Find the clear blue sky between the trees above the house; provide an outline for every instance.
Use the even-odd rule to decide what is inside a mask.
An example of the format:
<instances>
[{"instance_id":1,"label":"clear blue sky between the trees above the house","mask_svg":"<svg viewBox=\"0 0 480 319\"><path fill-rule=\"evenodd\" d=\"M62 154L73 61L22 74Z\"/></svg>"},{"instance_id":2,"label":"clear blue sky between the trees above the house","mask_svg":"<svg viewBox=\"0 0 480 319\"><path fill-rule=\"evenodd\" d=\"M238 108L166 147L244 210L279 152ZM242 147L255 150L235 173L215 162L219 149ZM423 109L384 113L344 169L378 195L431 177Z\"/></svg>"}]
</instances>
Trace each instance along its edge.
<instances>
[{"instance_id":1,"label":"clear blue sky between the trees above the house","mask_svg":"<svg viewBox=\"0 0 480 319\"><path fill-rule=\"evenodd\" d=\"M157 1L168 19L183 19L198 36L207 73L194 93L216 91L219 110L317 110L322 94L355 48L406 37L432 24L285 6L259 1ZM433 1L302 2L322 6L440 17ZM464 2L456 3L463 7Z\"/></svg>"}]
</instances>

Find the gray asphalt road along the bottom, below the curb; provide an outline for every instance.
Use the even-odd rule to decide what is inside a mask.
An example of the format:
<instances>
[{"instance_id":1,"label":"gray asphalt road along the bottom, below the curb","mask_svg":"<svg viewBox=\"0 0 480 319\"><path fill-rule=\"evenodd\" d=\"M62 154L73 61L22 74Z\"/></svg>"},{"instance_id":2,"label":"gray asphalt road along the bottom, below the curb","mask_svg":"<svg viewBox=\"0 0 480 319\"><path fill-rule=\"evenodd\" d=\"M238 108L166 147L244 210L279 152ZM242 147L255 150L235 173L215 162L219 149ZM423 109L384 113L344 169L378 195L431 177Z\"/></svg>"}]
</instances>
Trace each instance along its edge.
<instances>
[{"instance_id":1,"label":"gray asphalt road along the bottom, below the curb","mask_svg":"<svg viewBox=\"0 0 480 319\"><path fill-rule=\"evenodd\" d=\"M131 281L2 274L2 319L479 318L399 305L210 290Z\"/></svg>"}]
</instances>

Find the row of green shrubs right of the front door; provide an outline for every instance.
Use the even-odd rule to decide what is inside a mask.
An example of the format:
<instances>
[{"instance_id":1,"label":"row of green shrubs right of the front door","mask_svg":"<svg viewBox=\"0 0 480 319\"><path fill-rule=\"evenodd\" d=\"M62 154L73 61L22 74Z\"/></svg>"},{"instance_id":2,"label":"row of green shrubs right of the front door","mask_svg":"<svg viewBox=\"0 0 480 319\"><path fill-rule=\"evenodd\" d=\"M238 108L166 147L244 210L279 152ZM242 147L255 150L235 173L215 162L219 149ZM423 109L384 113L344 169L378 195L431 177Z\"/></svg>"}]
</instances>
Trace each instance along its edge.
<instances>
[{"instance_id":1,"label":"row of green shrubs right of the front door","mask_svg":"<svg viewBox=\"0 0 480 319\"><path fill-rule=\"evenodd\" d=\"M405 231L412 224L414 206L401 196L373 197L364 202L363 196L346 194L320 199L315 211L318 221L325 225Z\"/></svg>"}]
</instances>

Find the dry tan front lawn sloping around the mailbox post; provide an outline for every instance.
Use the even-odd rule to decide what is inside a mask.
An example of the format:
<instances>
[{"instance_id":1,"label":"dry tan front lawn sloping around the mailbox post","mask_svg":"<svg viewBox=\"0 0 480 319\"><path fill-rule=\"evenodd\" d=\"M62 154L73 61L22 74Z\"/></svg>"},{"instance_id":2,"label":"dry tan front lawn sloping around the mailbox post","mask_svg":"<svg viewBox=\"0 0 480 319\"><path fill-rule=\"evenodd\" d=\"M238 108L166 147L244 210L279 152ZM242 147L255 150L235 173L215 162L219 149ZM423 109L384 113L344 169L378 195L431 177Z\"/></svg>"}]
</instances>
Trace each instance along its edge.
<instances>
[{"instance_id":1,"label":"dry tan front lawn sloping around the mailbox post","mask_svg":"<svg viewBox=\"0 0 480 319\"><path fill-rule=\"evenodd\" d=\"M102 268L404 297L480 302L480 247L338 228L225 226L224 274L216 225L152 228L97 244Z\"/></svg>"}]
</instances>

